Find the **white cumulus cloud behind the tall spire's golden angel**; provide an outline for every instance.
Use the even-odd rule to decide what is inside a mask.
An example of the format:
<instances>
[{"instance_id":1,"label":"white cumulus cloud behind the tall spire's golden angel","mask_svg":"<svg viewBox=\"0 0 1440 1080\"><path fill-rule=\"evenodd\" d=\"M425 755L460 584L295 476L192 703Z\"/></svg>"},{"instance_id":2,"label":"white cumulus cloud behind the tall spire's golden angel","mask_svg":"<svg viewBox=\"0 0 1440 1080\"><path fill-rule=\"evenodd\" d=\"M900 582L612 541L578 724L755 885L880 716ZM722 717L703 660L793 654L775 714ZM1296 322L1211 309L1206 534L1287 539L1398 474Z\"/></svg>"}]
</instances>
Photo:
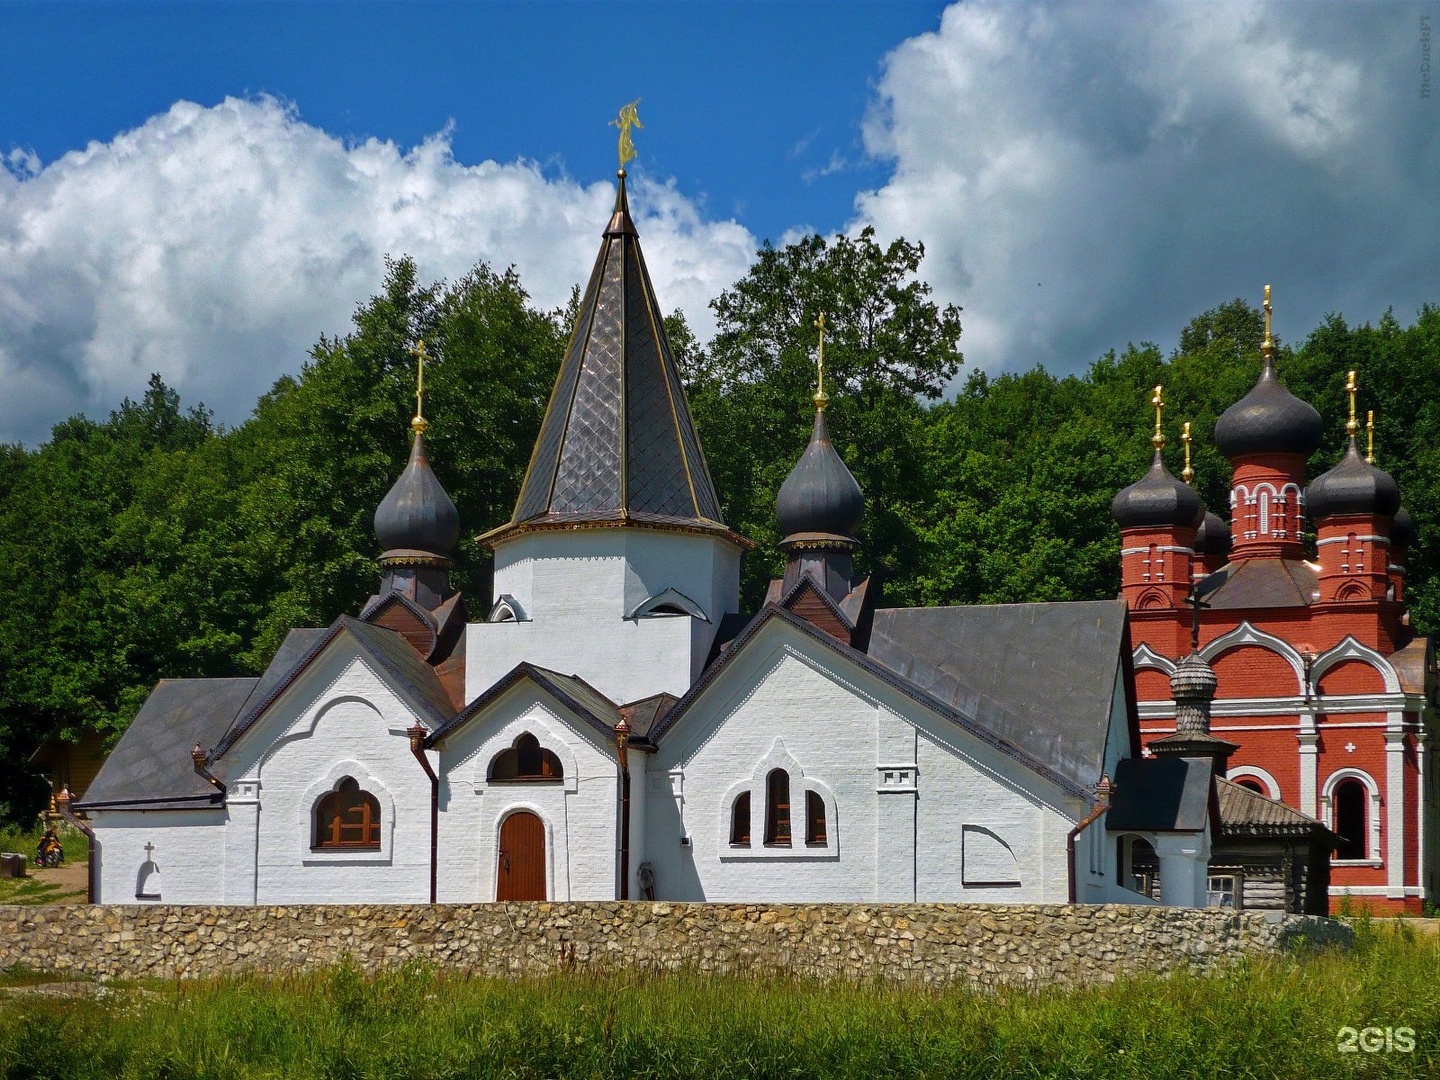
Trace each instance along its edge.
<instances>
[{"instance_id":1,"label":"white cumulus cloud behind the tall spire's golden angel","mask_svg":"<svg viewBox=\"0 0 1440 1080\"><path fill-rule=\"evenodd\" d=\"M321 333L350 328L383 276L514 265L534 301L589 275L611 183L526 161L465 166L446 132L419 147L347 144L272 98L177 102L134 131L42 164L0 160L0 441L104 415L151 372L235 423ZM674 184L632 180L665 310L698 333L756 242L706 220Z\"/></svg>"}]
</instances>

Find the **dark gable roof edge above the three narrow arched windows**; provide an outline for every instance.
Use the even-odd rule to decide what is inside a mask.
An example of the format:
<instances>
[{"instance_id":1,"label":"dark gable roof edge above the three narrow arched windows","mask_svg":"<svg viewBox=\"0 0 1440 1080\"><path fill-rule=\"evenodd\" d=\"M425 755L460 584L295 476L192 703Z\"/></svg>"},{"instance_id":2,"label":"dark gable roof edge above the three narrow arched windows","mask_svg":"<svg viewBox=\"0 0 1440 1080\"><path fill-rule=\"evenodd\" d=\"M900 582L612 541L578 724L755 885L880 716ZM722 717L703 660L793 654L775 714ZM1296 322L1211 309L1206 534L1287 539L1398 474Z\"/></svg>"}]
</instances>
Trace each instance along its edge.
<instances>
[{"instance_id":1,"label":"dark gable roof edge above the three narrow arched windows","mask_svg":"<svg viewBox=\"0 0 1440 1080\"><path fill-rule=\"evenodd\" d=\"M877 612L877 616L878 613L880 612ZM822 629L814 626L812 624L799 618L793 612L789 612L773 602L766 603L765 608L760 609L760 613L756 615L755 619L750 621L750 625L740 632L740 635L734 639L734 644L730 645L730 648L726 649L720 655L720 658L716 660L714 664L706 668L706 671L701 672L700 678L696 680L694 685L691 685L690 690L685 693L685 696L680 698L678 704L675 704L674 708L671 708L664 717L661 717L660 723L651 729L649 742L652 744L658 744L665 737L665 734L671 729L674 729L674 726L680 723L681 719L684 719L684 716L696 706L696 703L703 700L706 691L711 685L714 685L720 672L723 672L730 664L733 664L737 657L743 655L746 649L750 647L750 644L760 634L760 631L773 621L782 621L788 626L792 626L793 629L799 631L812 641L819 642L821 645L828 648L831 652L837 654L840 658L842 658L852 667L857 667L865 671L867 674L878 678L881 683L900 691L910 700L916 701L917 704L923 706L932 713L936 713L942 719L953 723L956 727L963 729L972 737L999 750L1007 757L1014 759L1024 768L1030 769L1038 776L1043 776L1044 779L1057 785L1063 791L1067 791L1071 795L1077 795L1084 799L1093 796L1092 785L1100 779L1099 772L1096 772L1094 778L1089 782L1077 780L1066 775L1064 772L1060 772L1047 762L1031 755L1028 750L1021 749L1020 746L1009 742L1004 736L998 734L996 732L991 730L985 724L981 724L972 714L966 713L963 708L958 708L952 703L948 703L936 697L924 687L916 684L909 678L904 678L886 664L881 664L873 660L871 657L867 657L864 652L851 648L845 642L832 638L829 634L825 634ZM874 639L871 639L871 647L873 644ZM1119 660L1120 660L1119 642L1116 642L1116 655L1112 658L1112 668L1110 668L1112 672L1115 671L1113 665L1117 664ZM1113 683L1113 675L1112 675L1112 683ZM1106 716L1109 717L1109 713L1106 713Z\"/></svg>"}]
</instances>

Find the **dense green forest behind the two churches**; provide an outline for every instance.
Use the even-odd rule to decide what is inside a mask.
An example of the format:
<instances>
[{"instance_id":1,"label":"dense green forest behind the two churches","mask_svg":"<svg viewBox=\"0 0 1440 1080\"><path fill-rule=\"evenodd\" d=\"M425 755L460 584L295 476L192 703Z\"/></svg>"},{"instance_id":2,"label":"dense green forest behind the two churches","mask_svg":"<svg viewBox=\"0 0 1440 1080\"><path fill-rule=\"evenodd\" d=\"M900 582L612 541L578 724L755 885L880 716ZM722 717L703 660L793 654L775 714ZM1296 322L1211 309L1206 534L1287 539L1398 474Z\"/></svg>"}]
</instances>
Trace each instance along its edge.
<instances>
[{"instance_id":1,"label":"dense green forest behind the two churches","mask_svg":"<svg viewBox=\"0 0 1440 1080\"><path fill-rule=\"evenodd\" d=\"M667 320L726 523L756 541L749 609L782 564L775 495L809 435L821 312L829 429L865 491L857 564L886 606L1115 596L1109 505L1149 464L1156 384L1171 471L1188 420L1195 485L1225 516L1230 467L1211 432L1259 373L1250 302L1195 315L1169 354L1129 343L1081 374L966 373L962 312L933 300L922 256L868 230L766 245L711 301L711 341ZM431 462L462 534L508 520L577 302L541 310L514 271L485 265L423 282L397 258L350 333L320 337L238 426L153 376L105 419L0 445L0 818L39 808L29 757L43 740L112 740L157 680L256 674L288 628L359 612L379 580L372 516L409 451L416 341L431 356ZM1331 314L1280 340L1277 367L1326 422L1310 478L1344 452L1345 373L1359 372L1377 464L1418 528L1410 605L1427 632L1440 621L1440 307L1408 325ZM462 541L452 577L484 611L478 544Z\"/></svg>"}]
</instances>

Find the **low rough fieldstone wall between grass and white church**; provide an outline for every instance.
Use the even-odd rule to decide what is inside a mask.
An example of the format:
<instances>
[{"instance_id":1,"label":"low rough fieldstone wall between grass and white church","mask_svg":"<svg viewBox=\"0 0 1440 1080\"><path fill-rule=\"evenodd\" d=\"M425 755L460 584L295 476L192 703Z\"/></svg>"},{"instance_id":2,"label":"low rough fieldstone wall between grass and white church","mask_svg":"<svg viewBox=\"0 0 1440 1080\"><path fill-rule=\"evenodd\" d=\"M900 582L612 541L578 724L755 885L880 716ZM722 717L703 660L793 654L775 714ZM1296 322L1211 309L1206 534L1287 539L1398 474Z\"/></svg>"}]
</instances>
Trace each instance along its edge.
<instances>
[{"instance_id":1,"label":"low rough fieldstone wall between grass and white church","mask_svg":"<svg viewBox=\"0 0 1440 1080\"><path fill-rule=\"evenodd\" d=\"M802 978L1092 984L1210 971L1302 942L1328 919L1120 906L504 903L0 907L0 969L98 978L291 972L353 958L475 975L792 972Z\"/></svg>"}]
</instances>

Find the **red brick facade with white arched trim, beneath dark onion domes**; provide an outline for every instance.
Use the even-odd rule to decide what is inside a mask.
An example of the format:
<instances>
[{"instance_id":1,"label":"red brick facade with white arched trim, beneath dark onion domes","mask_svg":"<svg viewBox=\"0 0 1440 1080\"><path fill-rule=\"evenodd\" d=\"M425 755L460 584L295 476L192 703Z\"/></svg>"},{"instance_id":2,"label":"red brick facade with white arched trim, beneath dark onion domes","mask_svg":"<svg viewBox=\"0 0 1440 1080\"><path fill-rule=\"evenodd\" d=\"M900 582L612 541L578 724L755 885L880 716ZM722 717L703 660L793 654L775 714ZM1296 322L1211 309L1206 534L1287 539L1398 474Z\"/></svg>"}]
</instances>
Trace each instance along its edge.
<instances>
[{"instance_id":1,"label":"red brick facade with white arched trim, beneath dark onion domes","mask_svg":"<svg viewBox=\"0 0 1440 1080\"><path fill-rule=\"evenodd\" d=\"M1223 567L1194 554L1191 526L1120 531L1142 740L1175 730L1169 672L1191 648L1181 583L1194 580L1212 598L1200 616L1220 683L1211 732L1240 746L1230 778L1346 837L1332 858L1332 910L1418 914L1440 900L1436 675L1430 642L1408 626L1392 520L1331 517L1308 546L1305 455L1233 464Z\"/></svg>"}]
</instances>

